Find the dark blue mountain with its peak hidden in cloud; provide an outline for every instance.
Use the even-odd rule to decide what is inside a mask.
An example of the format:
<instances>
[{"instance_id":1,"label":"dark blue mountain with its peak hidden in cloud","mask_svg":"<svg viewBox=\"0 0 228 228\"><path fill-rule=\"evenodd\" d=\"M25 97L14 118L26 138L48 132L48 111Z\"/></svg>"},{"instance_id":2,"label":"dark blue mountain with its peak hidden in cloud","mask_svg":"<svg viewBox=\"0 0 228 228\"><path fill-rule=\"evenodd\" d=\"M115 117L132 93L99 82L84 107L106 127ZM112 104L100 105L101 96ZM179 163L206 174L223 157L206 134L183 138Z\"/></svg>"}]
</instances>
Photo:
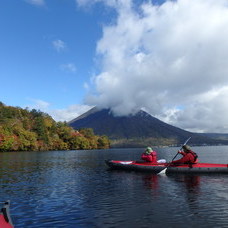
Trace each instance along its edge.
<instances>
[{"instance_id":1,"label":"dark blue mountain with its peak hidden in cloud","mask_svg":"<svg viewBox=\"0 0 228 228\"><path fill-rule=\"evenodd\" d=\"M92 128L98 135L107 135L112 147L179 145L188 137L191 137L191 145L228 144L227 140L213 139L169 125L142 110L135 115L117 117L109 109L94 107L68 124L74 129Z\"/></svg>"}]
</instances>

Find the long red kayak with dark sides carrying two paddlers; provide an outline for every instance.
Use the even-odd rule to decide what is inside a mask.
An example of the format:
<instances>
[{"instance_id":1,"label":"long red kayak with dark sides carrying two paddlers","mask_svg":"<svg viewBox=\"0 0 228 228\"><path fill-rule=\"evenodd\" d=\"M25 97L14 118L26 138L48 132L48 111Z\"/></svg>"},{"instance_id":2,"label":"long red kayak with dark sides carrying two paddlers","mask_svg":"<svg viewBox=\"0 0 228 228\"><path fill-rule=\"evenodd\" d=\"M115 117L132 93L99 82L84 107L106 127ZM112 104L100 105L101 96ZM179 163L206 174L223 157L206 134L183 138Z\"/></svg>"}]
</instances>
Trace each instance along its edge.
<instances>
[{"instance_id":1,"label":"long red kayak with dark sides carrying two paddlers","mask_svg":"<svg viewBox=\"0 0 228 228\"><path fill-rule=\"evenodd\" d=\"M112 169L133 170L141 172L159 173L166 169L166 173L227 173L228 164L197 163L183 165L168 165L168 163L150 163L141 161L106 160Z\"/></svg>"}]
</instances>

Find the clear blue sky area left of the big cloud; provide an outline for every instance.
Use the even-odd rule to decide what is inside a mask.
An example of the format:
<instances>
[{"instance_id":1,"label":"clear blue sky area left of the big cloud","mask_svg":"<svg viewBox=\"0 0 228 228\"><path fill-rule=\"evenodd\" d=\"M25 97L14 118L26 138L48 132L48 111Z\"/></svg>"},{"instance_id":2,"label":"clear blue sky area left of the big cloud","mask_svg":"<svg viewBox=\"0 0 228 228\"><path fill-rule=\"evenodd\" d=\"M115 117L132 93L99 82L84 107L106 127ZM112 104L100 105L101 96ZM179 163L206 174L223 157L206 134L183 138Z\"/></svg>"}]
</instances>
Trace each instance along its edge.
<instances>
[{"instance_id":1,"label":"clear blue sky area left of the big cloud","mask_svg":"<svg viewBox=\"0 0 228 228\"><path fill-rule=\"evenodd\" d=\"M0 3L1 100L22 107L34 100L53 108L81 103L84 84L96 71L96 42L107 15L69 0L32 3Z\"/></svg>"}]
</instances>

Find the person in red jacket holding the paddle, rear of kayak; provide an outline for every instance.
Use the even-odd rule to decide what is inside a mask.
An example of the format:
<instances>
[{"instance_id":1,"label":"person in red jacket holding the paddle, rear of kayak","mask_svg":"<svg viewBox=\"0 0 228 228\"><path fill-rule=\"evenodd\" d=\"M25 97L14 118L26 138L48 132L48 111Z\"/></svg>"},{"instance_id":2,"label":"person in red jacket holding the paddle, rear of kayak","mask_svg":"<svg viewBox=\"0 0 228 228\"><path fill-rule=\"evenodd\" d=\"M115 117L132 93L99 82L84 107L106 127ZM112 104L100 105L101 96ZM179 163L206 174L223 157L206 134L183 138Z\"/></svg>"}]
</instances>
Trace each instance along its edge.
<instances>
[{"instance_id":1,"label":"person in red jacket holding the paddle, rear of kayak","mask_svg":"<svg viewBox=\"0 0 228 228\"><path fill-rule=\"evenodd\" d=\"M182 146L183 151L179 150L178 153L183 157L179 160L172 161L173 165L181 164L196 164L198 162L198 155L191 150L191 147L188 145Z\"/></svg>"}]
</instances>

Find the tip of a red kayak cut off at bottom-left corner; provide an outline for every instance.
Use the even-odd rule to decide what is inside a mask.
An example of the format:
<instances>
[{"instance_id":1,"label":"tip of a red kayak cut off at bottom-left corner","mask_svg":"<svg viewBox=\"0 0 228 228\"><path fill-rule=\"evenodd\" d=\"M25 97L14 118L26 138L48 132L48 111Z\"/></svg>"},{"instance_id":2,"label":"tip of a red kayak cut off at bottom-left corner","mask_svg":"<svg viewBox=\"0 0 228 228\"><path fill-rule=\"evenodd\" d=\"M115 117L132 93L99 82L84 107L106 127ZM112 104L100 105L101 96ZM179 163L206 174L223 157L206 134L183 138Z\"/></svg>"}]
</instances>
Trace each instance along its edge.
<instances>
[{"instance_id":1,"label":"tip of a red kayak cut off at bottom-left corner","mask_svg":"<svg viewBox=\"0 0 228 228\"><path fill-rule=\"evenodd\" d=\"M3 202L3 206L0 211L0 228L13 228L13 223L10 217L10 201Z\"/></svg>"}]
</instances>

